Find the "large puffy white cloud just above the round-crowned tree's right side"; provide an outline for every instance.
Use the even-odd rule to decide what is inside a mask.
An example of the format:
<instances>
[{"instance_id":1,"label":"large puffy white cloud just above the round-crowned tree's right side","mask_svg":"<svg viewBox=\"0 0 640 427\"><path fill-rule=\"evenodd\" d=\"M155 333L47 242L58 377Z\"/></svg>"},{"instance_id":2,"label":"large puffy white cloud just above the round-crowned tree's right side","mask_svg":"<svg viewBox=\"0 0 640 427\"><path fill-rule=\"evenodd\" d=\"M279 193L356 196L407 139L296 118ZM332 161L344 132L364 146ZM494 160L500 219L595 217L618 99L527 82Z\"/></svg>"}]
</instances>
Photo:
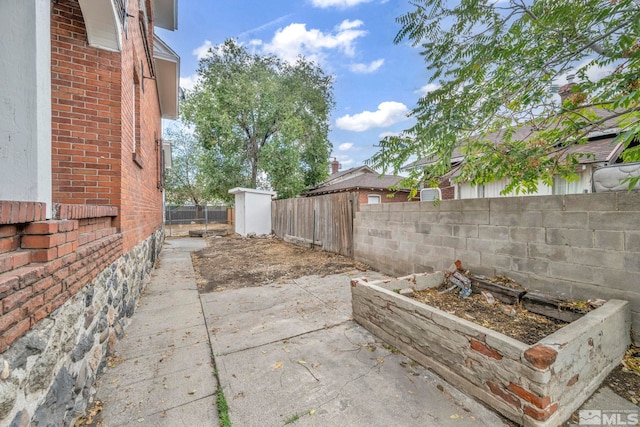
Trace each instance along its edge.
<instances>
[{"instance_id":1,"label":"large puffy white cloud just above the round-crowned tree's right side","mask_svg":"<svg viewBox=\"0 0 640 427\"><path fill-rule=\"evenodd\" d=\"M276 31L271 42L264 45L266 53L278 55L293 62L299 55L322 62L324 52L338 49L347 56L355 54L355 40L367 32L359 30L362 21L343 21L333 33L323 33L318 29L307 30L305 24L290 24Z\"/></svg>"}]
</instances>

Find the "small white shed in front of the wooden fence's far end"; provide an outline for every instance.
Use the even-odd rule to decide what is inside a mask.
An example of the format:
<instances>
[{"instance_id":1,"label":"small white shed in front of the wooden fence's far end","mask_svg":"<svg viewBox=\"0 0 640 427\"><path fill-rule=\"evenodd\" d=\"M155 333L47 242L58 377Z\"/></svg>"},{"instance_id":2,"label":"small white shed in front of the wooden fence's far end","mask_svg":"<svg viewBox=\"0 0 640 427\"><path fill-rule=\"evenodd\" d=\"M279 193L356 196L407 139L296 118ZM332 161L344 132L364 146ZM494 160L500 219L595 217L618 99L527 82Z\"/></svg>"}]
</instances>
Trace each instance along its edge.
<instances>
[{"instance_id":1,"label":"small white shed in front of the wooden fence's far end","mask_svg":"<svg viewBox=\"0 0 640 427\"><path fill-rule=\"evenodd\" d=\"M239 187L229 193L235 194L236 233L243 236L271 233L271 198L276 193Z\"/></svg>"}]
</instances>

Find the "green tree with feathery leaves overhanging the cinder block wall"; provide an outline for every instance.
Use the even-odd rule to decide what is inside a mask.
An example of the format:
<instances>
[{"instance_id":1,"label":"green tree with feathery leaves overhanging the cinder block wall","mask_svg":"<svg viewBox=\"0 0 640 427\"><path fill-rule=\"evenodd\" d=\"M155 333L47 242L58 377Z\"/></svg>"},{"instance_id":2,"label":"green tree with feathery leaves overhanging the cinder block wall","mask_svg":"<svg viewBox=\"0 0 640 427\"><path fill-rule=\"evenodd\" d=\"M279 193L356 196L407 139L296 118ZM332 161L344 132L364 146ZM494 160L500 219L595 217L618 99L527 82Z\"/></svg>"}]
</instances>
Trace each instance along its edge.
<instances>
[{"instance_id":1,"label":"green tree with feathery leaves overhanging the cinder block wall","mask_svg":"<svg viewBox=\"0 0 640 427\"><path fill-rule=\"evenodd\" d=\"M628 148L623 158L640 160L638 0L412 5L397 19L395 42L421 48L435 90L417 102L413 127L381 141L374 166L397 172L416 157L432 158L403 183L415 186L447 173L457 148L465 155L461 181L506 178L504 193L535 192L554 175L576 177L581 154L567 148L586 143L604 118L620 128L618 141ZM597 70L606 72L594 77ZM552 84L568 73L578 81L561 103ZM490 136L498 131L496 144Z\"/></svg>"}]
</instances>

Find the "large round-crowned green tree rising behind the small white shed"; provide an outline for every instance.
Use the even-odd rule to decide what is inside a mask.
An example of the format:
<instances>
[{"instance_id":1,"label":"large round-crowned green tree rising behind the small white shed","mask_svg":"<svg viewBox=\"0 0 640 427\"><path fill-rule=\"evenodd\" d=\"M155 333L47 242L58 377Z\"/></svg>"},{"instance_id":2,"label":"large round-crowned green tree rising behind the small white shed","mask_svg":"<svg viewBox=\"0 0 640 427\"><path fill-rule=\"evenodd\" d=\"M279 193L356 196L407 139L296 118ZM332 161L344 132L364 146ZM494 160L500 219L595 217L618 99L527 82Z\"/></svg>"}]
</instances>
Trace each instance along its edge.
<instances>
[{"instance_id":1,"label":"large round-crowned green tree rising behind the small white shed","mask_svg":"<svg viewBox=\"0 0 640 427\"><path fill-rule=\"evenodd\" d=\"M233 174L218 191L270 186L291 197L326 178L333 83L318 66L251 54L227 40L200 60L198 75L182 115L209 150L210 166Z\"/></svg>"}]
</instances>

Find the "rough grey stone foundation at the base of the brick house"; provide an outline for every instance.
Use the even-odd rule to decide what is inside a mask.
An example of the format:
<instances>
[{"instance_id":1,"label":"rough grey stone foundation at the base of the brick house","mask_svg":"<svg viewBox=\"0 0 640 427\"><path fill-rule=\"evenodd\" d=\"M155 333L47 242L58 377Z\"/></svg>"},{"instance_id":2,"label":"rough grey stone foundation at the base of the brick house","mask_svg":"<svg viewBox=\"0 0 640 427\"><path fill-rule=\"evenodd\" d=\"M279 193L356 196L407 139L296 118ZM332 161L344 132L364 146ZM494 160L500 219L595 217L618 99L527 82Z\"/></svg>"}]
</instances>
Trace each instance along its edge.
<instances>
[{"instance_id":1,"label":"rough grey stone foundation at the base of the brick house","mask_svg":"<svg viewBox=\"0 0 640 427\"><path fill-rule=\"evenodd\" d=\"M0 425L72 425L123 336L164 230L119 257L0 355Z\"/></svg>"}]
</instances>

